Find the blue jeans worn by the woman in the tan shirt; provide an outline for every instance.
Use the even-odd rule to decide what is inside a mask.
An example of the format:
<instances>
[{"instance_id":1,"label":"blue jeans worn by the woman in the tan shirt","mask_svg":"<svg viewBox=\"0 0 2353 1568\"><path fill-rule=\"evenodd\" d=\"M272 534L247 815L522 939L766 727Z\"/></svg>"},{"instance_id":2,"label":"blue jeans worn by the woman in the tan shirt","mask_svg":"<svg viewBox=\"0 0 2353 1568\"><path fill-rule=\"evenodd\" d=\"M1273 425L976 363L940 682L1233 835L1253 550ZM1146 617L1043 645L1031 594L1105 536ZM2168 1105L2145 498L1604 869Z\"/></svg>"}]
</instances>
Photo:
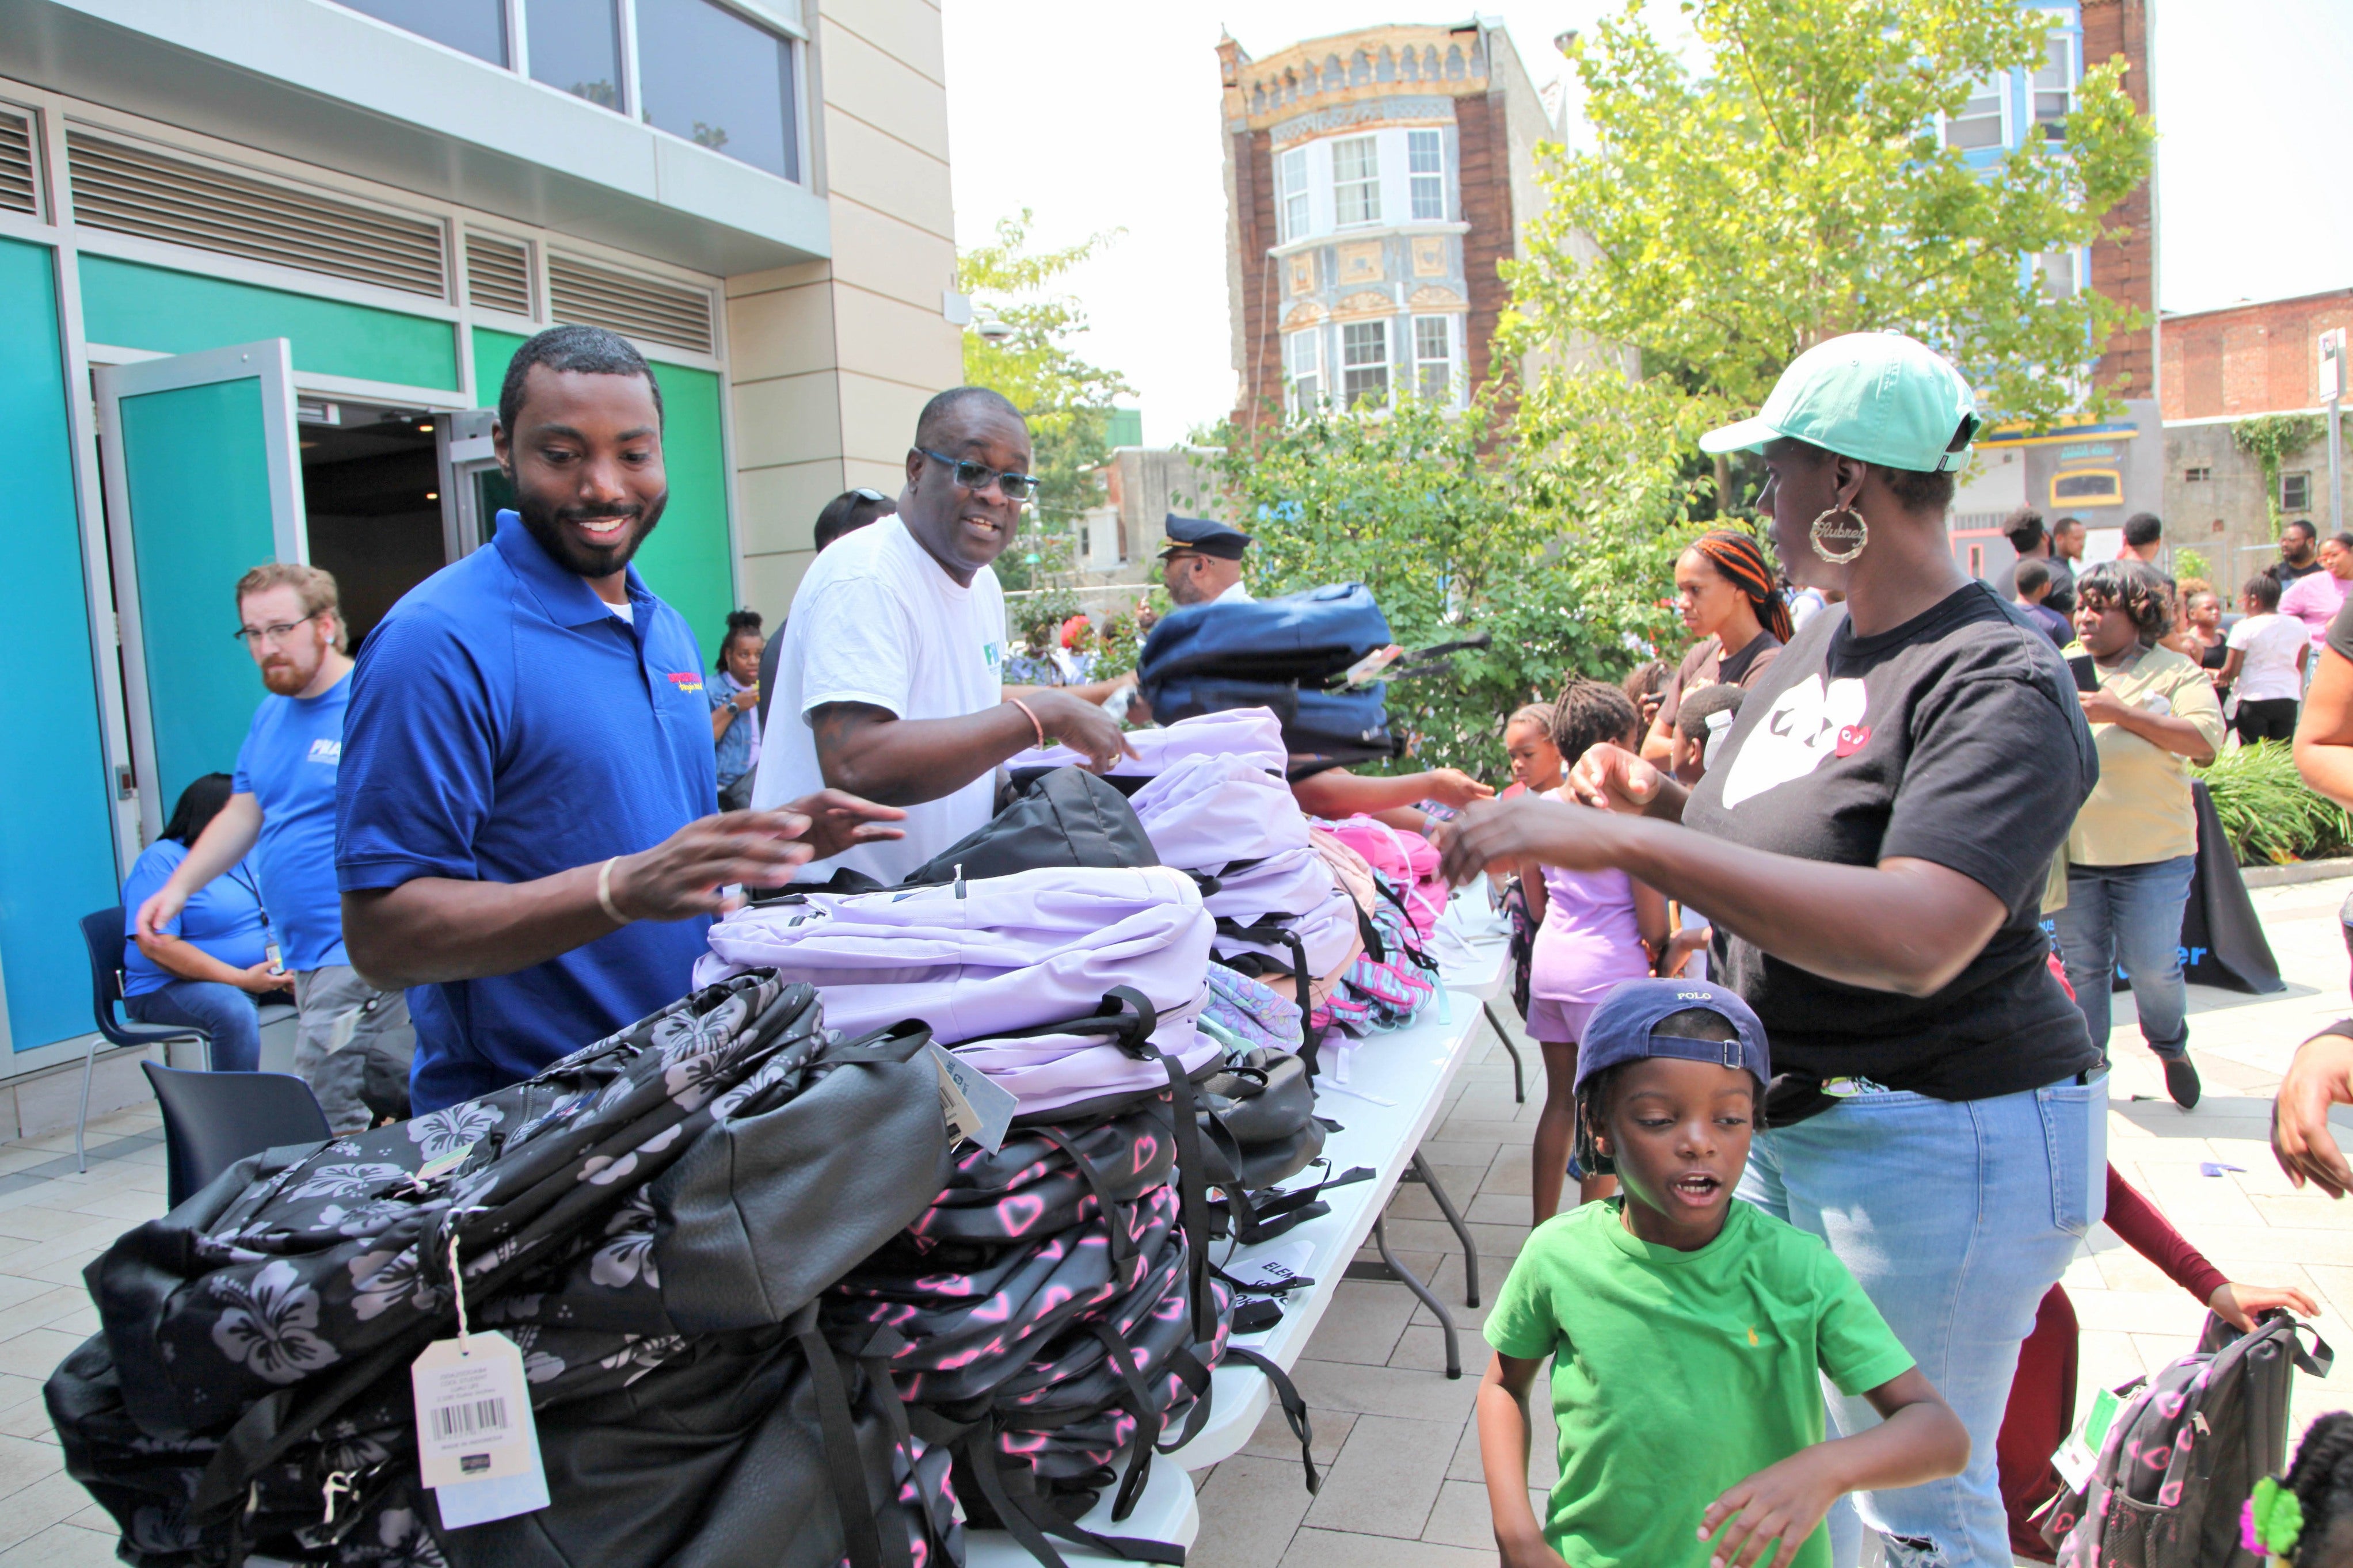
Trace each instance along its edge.
<instances>
[{"instance_id":1,"label":"blue jeans worn by the woman in the tan shirt","mask_svg":"<svg viewBox=\"0 0 2353 1568\"><path fill-rule=\"evenodd\" d=\"M2195 856L2146 865L2066 867L2066 907L2059 926L2059 961L2075 987L2075 1006L2092 1025L2092 1044L2108 1048L2111 976L2122 966L2132 980L2132 1004L2141 1013L2141 1039L2158 1056L2177 1056L2191 1044L2188 992L2181 987L2181 907L2191 900Z\"/></svg>"}]
</instances>

